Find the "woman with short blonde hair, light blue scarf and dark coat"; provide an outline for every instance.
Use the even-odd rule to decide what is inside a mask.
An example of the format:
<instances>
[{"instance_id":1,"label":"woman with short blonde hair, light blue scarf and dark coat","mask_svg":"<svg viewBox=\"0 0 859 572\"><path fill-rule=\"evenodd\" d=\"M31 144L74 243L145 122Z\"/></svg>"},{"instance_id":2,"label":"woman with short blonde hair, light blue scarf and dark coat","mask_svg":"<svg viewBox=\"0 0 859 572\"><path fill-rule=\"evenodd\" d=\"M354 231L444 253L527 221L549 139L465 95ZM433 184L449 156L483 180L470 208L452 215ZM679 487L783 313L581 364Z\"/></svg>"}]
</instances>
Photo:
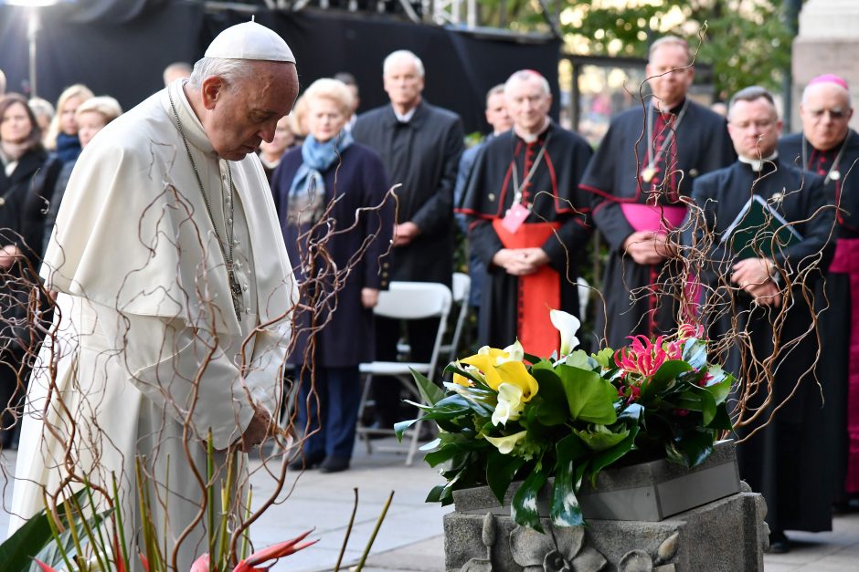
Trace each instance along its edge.
<instances>
[{"instance_id":1,"label":"woman with short blonde hair, light blue scarf and dark coat","mask_svg":"<svg viewBox=\"0 0 859 572\"><path fill-rule=\"evenodd\" d=\"M334 473L352 457L358 364L375 354L373 307L387 288L394 205L376 151L344 129L352 112L345 84L319 79L302 99L309 133L283 156L271 182L301 303L316 310L295 317L290 362L301 379L296 407L305 440L291 466Z\"/></svg>"}]
</instances>

